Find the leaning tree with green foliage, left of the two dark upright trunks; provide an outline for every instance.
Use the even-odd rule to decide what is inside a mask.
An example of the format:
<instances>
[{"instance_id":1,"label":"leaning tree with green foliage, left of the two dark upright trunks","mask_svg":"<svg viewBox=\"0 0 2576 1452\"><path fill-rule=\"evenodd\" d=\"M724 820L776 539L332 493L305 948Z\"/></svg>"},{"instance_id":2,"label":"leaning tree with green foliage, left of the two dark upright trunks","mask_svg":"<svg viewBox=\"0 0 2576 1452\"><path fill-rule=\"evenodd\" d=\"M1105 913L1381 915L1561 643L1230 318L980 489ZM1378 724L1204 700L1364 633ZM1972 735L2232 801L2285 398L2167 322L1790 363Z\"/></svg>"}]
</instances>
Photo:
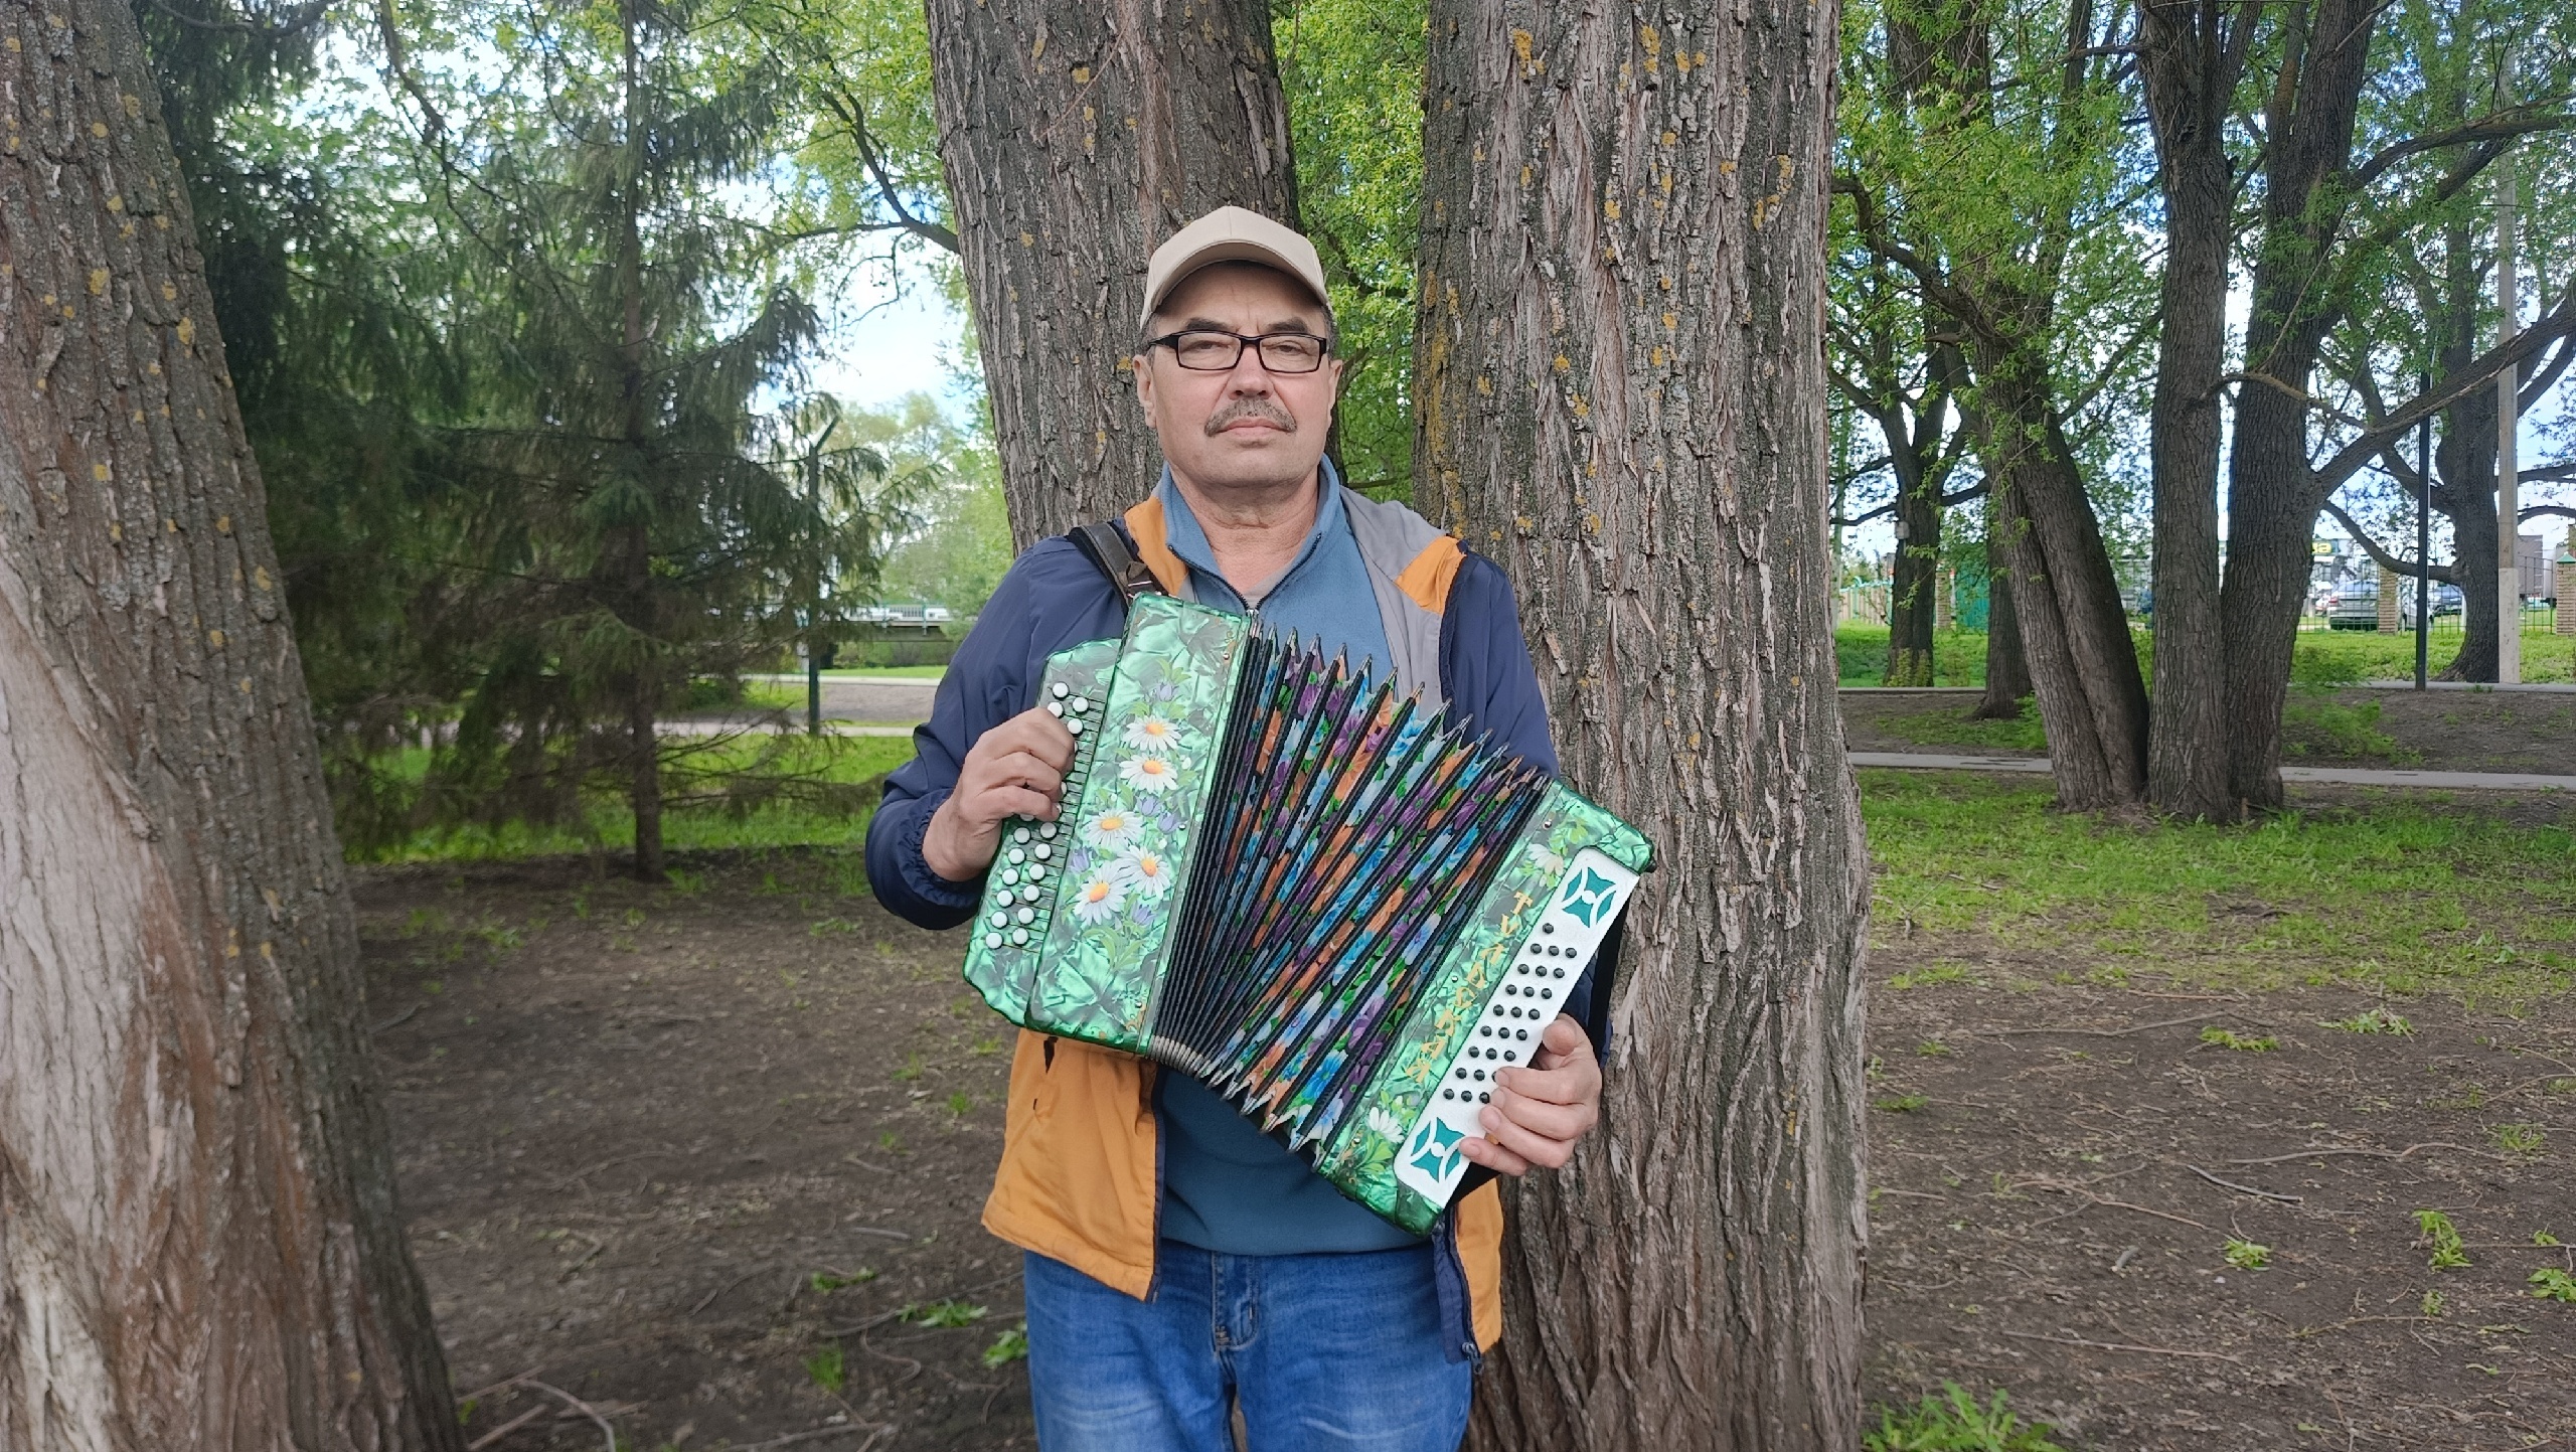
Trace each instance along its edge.
<instances>
[{"instance_id":1,"label":"leaning tree with green foliage, left of the two dark upright trunks","mask_svg":"<svg viewBox=\"0 0 2576 1452\"><path fill-rule=\"evenodd\" d=\"M2094 0L1875 0L1844 64L1844 175L1862 245L1950 319L1965 422L1994 489L1989 566L2014 623L2058 801L2146 790L2146 682L2094 505L2102 412L2117 412L2154 317L2123 219L2123 13ZM1855 26L1847 26L1855 28ZM1978 178L1978 185L1960 185ZM2105 396L2112 407L2105 409Z\"/></svg>"}]
</instances>

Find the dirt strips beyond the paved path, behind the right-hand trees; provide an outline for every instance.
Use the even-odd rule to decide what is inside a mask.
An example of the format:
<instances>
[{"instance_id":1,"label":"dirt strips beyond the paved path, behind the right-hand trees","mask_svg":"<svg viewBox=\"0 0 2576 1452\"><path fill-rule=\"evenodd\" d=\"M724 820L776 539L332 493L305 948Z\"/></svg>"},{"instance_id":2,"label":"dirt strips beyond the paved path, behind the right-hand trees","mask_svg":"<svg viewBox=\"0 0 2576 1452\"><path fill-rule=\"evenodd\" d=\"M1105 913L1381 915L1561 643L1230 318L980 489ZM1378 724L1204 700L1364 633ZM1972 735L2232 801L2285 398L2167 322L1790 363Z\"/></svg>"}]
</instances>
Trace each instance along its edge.
<instances>
[{"instance_id":1,"label":"dirt strips beyond the paved path, behind the right-hand trees","mask_svg":"<svg viewBox=\"0 0 2576 1452\"><path fill-rule=\"evenodd\" d=\"M2375 729L2396 752L2352 752L2339 739L2300 721L2300 705L2378 705ZM1842 734L1855 752L1971 752L1978 757L2043 757L2040 749L1960 747L1922 741L1896 729L1901 718L1963 718L1976 705L1968 693L1844 690ZM2365 690L2298 693L2285 726L2282 757L2300 767L2424 767L2445 772L2550 772L2576 775L2576 693L2504 690Z\"/></svg>"}]
</instances>

